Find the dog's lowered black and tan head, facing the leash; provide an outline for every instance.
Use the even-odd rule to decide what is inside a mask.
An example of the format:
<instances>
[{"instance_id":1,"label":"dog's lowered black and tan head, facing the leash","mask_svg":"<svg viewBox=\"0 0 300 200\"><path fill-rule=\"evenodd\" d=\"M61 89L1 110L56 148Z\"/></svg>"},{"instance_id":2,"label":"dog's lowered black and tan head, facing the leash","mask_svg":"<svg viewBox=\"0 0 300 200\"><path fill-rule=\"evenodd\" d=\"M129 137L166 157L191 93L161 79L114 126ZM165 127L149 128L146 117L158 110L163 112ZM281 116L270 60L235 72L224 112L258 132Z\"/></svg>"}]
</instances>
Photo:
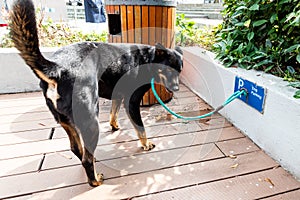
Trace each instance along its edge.
<instances>
[{"instance_id":1,"label":"dog's lowered black and tan head, facing the leash","mask_svg":"<svg viewBox=\"0 0 300 200\"><path fill-rule=\"evenodd\" d=\"M155 81L164 85L169 92L179 90L179 74L182 70L183 53L179 47L167 49L161 44L155 45L154 63L158 64Z\"/></svg>"}]
</instances>

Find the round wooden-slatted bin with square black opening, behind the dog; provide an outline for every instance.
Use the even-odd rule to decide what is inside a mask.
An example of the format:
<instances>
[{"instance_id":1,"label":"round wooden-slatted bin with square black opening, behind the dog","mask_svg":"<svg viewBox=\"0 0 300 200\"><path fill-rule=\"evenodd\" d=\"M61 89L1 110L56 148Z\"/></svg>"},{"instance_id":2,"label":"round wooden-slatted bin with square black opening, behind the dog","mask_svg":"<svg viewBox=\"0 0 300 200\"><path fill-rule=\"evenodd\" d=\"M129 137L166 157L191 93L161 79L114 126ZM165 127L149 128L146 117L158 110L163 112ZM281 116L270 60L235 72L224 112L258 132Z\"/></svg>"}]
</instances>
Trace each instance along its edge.
<instances>
[{"instance_id":1,"label":"round wooden-slatted bin with square black opening, behind the dog","mask_svg":"<svg viewBox=\"0 0 300 200\"><path fill-rule=\"evenodd\" d=\"M161 43L167 48L175 45L176 0L105 0L108 16L108 40L112 43ZM172 99L163 86L156 91L164 102ZM149 90L142 106L157 103Z\"/></svg>"}]
</instances>

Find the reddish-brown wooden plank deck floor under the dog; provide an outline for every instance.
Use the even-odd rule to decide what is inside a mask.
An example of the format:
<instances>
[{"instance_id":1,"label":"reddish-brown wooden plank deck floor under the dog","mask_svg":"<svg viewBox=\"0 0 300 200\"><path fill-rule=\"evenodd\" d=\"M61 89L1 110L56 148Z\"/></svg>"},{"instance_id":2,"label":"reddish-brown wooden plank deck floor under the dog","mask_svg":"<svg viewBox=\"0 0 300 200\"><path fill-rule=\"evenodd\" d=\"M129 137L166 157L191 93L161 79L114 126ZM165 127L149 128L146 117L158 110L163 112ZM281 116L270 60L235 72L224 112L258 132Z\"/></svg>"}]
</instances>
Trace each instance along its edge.
<instances>
[{"instance_id":1,"label":"reddish-brown wooden plank deck floor under the dog","mask_svg":"<svg viewBox=\"0 0 300 200\"><path fill-rule=\"evenodd\" d=\"M211 109L184 86L169 106L183 115ZM143 152L124 110L114 133L110 102L100 110L96 158L105 181L91 188L41 93L1 95L0 199L300 199L300 183L220 115L185 122L161 106L143 108L156 144Z\"/></svg>"}]
</instances>

